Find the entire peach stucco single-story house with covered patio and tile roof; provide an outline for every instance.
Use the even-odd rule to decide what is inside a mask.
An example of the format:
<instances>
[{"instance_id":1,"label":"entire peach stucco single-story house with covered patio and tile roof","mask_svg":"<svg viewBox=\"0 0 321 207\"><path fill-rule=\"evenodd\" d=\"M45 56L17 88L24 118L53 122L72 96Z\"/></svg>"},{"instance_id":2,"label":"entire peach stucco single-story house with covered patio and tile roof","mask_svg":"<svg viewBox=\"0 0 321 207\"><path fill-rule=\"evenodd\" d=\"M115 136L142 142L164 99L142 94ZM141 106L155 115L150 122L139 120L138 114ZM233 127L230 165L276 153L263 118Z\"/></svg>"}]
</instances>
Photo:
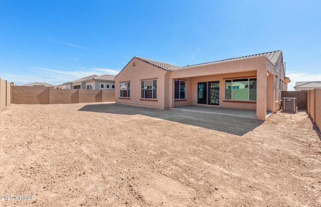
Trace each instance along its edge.
<instances>
[{"instance_id":1,"label":"entire peach stucco single-story house with covered patio and tile roof","mask_svg":"<svg viewBox=\"0 0 321 207\"><path fill-rule=\"evenodd\" d=\"M184 105L256 110L265 120L287 90L281 51L176 66L133 57L115 78L115 102L172 109Z\"/></svg>"}]
</instances>

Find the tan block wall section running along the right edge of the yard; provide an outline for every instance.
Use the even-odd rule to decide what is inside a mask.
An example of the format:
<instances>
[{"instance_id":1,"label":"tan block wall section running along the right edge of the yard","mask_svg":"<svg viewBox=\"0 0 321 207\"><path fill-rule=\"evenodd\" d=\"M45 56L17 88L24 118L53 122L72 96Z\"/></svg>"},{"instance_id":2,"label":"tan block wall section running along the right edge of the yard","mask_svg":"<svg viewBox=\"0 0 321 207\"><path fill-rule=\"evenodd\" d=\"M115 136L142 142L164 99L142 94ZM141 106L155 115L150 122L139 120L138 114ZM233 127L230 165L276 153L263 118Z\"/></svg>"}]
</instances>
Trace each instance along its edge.
<instances>
[{"instance_id":1,"label":"tan block wall section running along the right edge of the yard","mask_svg":"<svg viewBox=\"0 0 321 207\"><path fill-rule=\"evenodd\" d=\"M307 113L321 130L321 89L307 91Z\"/></svg>"}]
</instances>

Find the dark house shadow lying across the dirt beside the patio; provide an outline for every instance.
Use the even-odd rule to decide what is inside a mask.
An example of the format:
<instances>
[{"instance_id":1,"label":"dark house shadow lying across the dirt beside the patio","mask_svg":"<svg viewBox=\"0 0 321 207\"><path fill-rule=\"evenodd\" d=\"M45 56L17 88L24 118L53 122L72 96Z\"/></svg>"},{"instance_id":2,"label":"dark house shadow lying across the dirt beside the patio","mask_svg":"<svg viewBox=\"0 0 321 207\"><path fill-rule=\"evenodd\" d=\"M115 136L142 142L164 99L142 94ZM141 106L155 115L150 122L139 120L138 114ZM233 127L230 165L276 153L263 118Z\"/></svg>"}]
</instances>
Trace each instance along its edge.
<instances>
[{"instance_id":1,"label":"dark house shadow lying across the dirt beside the patio","mask_svg":"<svg viewBox=\"0 0 321 207\"><path fill-rule=\"evenodd\" d=\"M189 124L239 136L246 134L247 132L255 129L263 123L263 121L256 119L231 117L219 114L199 113L194 111L162 110L115 103L86 105L78 111L123 115L140 114L143 116L179 122L182 124Z\"/></svg>"}]
</instances>

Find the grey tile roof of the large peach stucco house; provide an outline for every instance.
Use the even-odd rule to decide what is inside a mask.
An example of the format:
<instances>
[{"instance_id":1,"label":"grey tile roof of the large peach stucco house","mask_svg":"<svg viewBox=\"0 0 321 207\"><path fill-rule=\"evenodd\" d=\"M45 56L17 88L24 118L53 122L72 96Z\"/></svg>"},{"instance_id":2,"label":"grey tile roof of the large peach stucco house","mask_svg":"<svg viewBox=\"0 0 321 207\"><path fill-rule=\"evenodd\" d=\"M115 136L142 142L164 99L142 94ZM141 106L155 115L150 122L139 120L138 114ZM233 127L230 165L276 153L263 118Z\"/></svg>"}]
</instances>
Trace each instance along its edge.
<instances>
[{"instance_id":1,"label":"grey tile roof of the large peach stucco house","mask_svg":"<svg viewBox=\"0 0 321 207\"><path fill-rule=\"evenodd\" d=\"M214 61L214 62L209 62L209 63L201 63L201 64L196 64L196 65L188 65L188 66L176 66L172 65L169 63L164 63L164 62L159 62L159 61L154 61L150 60L147 58L142 58L135 56L134 58L141 60L145 63L151 64L157 68L161 68L166 71L174 71L174 70L181 70L181 69L186 69L186 68L194 68L194 67L199 67L199 66L206 66L206 65L213 65L213 64L218 64L218 63L225 63L225 62L232 62L232 61L237 61L237 60L244 60L244 59L250 59L250 58L256 58L256 57L262 57L265 56L267 57L274 65L276 65L278 59L280 58L282 54L282 51L273 51L273 52L267 52L267 53L260 53L256 55L249 55L249 56L243 56L243 57L238 57L238 58L230 58L230 59L225 59L225 60L220 60L220 61Z\"/></svg>"}]
</instances>

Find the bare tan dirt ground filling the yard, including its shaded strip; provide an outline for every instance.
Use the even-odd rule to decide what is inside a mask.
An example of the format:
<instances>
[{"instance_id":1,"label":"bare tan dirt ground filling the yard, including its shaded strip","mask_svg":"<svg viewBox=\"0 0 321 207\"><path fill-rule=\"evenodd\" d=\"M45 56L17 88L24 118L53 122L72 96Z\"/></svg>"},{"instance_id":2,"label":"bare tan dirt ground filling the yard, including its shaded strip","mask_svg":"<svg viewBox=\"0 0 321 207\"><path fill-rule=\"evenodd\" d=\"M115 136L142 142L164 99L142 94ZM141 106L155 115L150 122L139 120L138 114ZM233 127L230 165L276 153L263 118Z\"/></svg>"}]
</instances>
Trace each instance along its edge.
<instances>
[{"instance_id":1,"label":"bare tan dirt ground filling the yard, including its shaded strip","mask_svg":"<svg viewBox=\"0 0 321 207\"><path fill-rule=\"evenodd\" d=\"M305 111L262 122L11 105L0 112L0 206L321 206L319 137Z\"/></svg>"}]
</instances>

